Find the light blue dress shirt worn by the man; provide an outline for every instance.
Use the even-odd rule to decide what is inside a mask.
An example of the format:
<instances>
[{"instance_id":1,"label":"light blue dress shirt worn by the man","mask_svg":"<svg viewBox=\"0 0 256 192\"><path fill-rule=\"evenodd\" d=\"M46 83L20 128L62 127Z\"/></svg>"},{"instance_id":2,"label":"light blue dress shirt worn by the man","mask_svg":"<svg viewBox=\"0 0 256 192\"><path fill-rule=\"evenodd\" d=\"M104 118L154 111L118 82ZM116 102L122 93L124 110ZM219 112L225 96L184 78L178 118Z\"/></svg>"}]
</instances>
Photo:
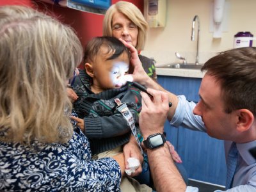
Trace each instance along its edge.
<instances>
[{"instance_id":1,"label":"light blue dress shirt worn by the man","mask_svg":"<svg viewBox=\"0 0 256 192\"><path fill-rule=\"evenodd\" d=\"M170 124L178 127L186 127L188 129L196 131L205 131L204 122L198 115L193 114L195 108L195 102L188 102L184 95L178 96L179 102ZM232 141L224 141L225 143L225 155L227 159L228 150L230 149ZM232 188L228 189L228 192L244 192L244 191L256 191L256 160L248 152L252 147L256 147L256 141L248 143L237 143L237 150L239 151L239 160L237 164L236 173ZM187 188L186 192L195 191L196 189ZM219 192L216 190L214 192Z\"/></svg>"}]
</instances>

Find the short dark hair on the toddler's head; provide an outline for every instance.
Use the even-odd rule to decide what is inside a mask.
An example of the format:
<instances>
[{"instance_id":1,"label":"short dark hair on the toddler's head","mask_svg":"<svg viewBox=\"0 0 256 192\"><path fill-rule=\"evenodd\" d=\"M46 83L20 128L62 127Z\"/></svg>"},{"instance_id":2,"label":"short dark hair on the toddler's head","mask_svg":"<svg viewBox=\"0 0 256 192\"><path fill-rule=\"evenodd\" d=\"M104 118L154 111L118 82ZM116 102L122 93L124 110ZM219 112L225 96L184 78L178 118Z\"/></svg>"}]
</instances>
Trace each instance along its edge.
<instances>
[{"instance_id":1,"label":"short dark hair on the toddler's head","mask_svg":"<svg viewBox=\"0 0 256 192\"><path fill-rule=\"evenodd\" d=\"M106 47L108 49L107 54L113 53L112 56L110 56L107 60L113 60L120 56L123 52L127 52L128 58L130 58L131 53L125 45L118 40L117 38L113 36L97 36L95 38L92 38L90 42L86 45L85 51L84 51L84 63L92 62L95 59L95 56L100 51L100 47Z\"/></svg>"}]
</instances>

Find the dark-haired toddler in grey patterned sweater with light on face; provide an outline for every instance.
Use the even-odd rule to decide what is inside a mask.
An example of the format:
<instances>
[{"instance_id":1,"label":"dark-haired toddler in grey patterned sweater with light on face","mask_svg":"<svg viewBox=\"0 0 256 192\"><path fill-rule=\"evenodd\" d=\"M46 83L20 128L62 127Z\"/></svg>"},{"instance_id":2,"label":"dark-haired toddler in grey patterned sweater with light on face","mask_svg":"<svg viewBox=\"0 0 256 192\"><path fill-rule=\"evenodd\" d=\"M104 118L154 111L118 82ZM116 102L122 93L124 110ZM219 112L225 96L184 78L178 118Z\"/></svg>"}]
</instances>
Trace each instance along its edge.
<instances>
[{"instance_id":1,"label":"dark-haired toddler in grey patterned sweater with light on face","mask_svg":"<svg viewBox=\"0 0 256 192\"><path fill-rule=\"evenodd\" d=\"M90 140L94 159L111 157L122 152L131 138L131 124L118 111L116 99L125 103L132 114L136 132L141 108L140 91L124 79L128 74L130 52L115 37L93 38L84 53L84 70L74 79L73 89L78 99L74 110L77 126ZM133 125L133 124L132 124ZM135 136L137 136L135 134ZM133 182L133 181L132 181ZM127 184L122 191L131 191ZM134 191L152 191L145 185Z\"/></svg>"}]
</instances>

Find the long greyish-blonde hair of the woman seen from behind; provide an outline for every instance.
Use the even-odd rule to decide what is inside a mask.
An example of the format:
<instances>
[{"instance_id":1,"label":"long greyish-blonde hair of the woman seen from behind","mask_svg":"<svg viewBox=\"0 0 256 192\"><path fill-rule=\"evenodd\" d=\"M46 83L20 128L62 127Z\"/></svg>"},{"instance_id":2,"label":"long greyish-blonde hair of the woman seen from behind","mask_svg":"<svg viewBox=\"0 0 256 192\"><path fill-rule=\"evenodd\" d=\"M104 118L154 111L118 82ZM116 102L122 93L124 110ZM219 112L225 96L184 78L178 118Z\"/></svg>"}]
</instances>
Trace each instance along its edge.
<instances>
[{"instance_id":1,"label":"long greyish-blonde hair of the woman seen from behind","mask_svg":"<svg viewBox=\"0 0 256 192\"><path fill-rule=\"evenodd\" d=\"M31 8L1 6L0 50L0 140L68 141L65 83L83 58L74 31Z\"/></svg>"}]
</instances>

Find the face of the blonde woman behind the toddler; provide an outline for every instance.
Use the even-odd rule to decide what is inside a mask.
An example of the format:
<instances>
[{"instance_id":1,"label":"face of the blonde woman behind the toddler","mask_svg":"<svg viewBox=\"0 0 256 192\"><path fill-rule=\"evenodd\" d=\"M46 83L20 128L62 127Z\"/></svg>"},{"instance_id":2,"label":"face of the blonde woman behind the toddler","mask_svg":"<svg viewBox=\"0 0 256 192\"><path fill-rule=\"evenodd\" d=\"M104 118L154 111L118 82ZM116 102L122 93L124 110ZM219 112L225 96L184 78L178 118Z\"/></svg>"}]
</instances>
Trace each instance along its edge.
<instances>
[{"instance_id":1,"label":"face of the blonde woman behind the toddler","mask_svg":"<svg viewBox=\"0 0 256 192\"><path fill-rule=\"evenodd\" d=\"M138 42L138 26L128 19L123 13L116 12L112 18L112 35L122 38L125 42L136 47Z\"/></svg>"}]
</instances>

